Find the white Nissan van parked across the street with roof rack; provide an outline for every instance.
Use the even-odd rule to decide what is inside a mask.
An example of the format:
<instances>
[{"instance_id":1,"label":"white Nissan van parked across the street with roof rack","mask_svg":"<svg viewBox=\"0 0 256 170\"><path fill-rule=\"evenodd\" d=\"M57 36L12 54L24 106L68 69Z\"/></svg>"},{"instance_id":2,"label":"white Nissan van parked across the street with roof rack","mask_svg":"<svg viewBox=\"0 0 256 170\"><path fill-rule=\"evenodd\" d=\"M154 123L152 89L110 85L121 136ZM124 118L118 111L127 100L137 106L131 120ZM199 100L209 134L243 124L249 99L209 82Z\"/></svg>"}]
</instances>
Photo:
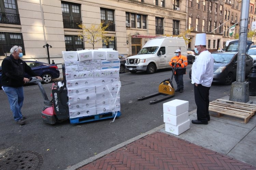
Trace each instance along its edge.
<instances>
[{"instance_id":1,"label":"white Nissan van parked across the street with roof rack","mask_svg":"<svg viewBox=\"0 0 256 170\"><path fill-rule=\"evenodd\" d=\"M147 71L153 74L162 68L171 68L169 62L175 56L175 51L181 50L181 55L187 56L187 48L183 38L157 37L147 41L137 55L127 57L125 68L131 73Z\"/></svg>"}]
</instances>

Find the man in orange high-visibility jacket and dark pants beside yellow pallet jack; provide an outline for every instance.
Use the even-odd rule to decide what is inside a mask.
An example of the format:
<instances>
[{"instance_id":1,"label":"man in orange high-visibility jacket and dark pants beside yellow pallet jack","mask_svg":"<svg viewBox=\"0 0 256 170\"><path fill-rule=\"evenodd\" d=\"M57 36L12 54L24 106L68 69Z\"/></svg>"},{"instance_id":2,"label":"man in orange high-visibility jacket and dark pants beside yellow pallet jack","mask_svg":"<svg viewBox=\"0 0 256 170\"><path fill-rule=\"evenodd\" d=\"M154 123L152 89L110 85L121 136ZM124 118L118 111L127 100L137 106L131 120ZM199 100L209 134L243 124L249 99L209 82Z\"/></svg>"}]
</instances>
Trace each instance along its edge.
<instances>
[{"instance_id":1,"label":"man in orange high-visibility jacket and dark pants beside yellow pallet jack","mask_svg":"<svg viewBox=\"0 0 256 170\"><path fill-rule=\"evenodd\" d=\"M172 57L171 61L169 62L169 65L174 68L175 63L177 68L176 71L174 72L174 79L177 84L177 89L175 91L180 91L180 93L183 93L183 74L186 74L187 57L181 55L180 49L177 49L175 51L175 56Z\"/></svg>"}]
</instances>

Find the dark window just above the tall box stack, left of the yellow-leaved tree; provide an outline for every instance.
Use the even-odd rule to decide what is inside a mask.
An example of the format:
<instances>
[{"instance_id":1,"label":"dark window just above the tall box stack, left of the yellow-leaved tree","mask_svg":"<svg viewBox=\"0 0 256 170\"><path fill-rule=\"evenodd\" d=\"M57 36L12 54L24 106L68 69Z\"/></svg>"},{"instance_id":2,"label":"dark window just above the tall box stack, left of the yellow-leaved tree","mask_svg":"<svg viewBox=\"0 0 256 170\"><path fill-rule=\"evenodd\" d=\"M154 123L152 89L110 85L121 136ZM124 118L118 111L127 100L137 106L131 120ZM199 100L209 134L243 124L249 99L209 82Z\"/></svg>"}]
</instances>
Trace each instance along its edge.
<instances>
[{"instance_id":1,"label":"dark window just above the tall box stack, left of the yellow-leaved tree","mask_svg":"<svg viewBox=\"0 0 256 170\"><path fill-rule=\"evenodd\" d=\"M84 49L83 40L77 35L65 35L66 51Z\"/></svg>"}]
</instances>

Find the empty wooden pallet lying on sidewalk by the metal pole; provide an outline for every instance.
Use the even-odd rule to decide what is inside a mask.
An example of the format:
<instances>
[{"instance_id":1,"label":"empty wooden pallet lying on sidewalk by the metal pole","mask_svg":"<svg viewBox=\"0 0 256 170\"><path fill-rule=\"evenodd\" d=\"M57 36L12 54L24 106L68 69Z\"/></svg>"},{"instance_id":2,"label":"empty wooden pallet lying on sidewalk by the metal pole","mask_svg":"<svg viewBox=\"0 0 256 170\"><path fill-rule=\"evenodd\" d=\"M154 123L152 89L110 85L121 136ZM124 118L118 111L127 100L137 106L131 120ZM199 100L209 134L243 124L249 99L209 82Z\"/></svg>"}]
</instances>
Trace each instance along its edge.
<instances>
[{"instance_id":1,"label":"empty wooden pallet lying on sidewalk by the metal pole","mask_svg":"<svg viewBox=\"0 0 256 170\"><path fill-rule=\"evenodd\" d=\"M209 104L211 116L247 123L256 112L256 104L217 99Z\"/></svg>"}]
</instances>

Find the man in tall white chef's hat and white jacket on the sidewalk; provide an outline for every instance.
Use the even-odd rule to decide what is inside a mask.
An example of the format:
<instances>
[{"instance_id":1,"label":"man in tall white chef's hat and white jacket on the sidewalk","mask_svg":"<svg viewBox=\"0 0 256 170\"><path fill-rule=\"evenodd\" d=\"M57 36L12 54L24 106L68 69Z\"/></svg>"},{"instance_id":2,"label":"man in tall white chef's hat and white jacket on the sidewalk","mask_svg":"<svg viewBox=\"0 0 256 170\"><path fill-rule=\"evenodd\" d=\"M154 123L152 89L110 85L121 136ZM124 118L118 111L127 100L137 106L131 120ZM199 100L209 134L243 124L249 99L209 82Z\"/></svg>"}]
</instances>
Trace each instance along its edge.
<instances>
[{"instance_id":1,"label":"man in tall white chef's hat and white jacket on the sidewalk","mask_svg":"<svg viewBox=\"0 0 256 170\"><path fill-rule=\"evenodd\" d=\"M192 65L191 83L194 84L195 102L197 105L197 120L194 124L208 124L209 115L209 90L213 80L213 57L206 49L205 33L197 34L195 52L198 55Z\"/></svg>"}]
</instances>

